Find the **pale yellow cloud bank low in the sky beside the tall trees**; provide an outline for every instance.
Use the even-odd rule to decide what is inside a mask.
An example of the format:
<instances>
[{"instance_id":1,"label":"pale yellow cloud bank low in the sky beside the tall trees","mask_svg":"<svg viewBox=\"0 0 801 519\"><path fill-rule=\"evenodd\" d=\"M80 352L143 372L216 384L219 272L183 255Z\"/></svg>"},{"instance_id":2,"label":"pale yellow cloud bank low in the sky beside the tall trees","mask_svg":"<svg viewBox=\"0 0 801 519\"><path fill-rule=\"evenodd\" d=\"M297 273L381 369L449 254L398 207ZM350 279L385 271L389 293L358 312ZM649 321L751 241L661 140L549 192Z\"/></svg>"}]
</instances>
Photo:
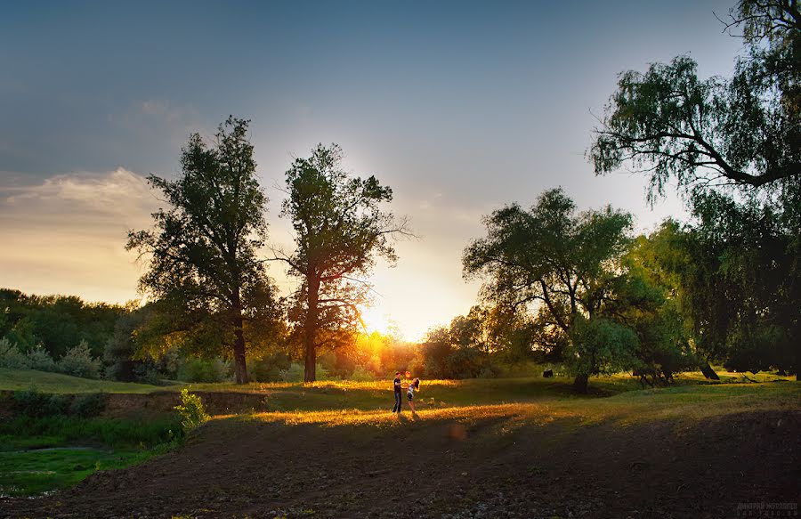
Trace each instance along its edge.
<instances>
[{"instance_id":1,"label":"pale yellow cloud bank low in the sky beside the tall trees","mask_svg":"<svg viewBox=\"0 0 801 519\"><path fill-rule=\"evenodd\" d=\"M0 286L134 298L140 270L125 251L126 233L148 227L158 206L142 175L123 168L0 186Z\"/></svg>"}]
</instances>

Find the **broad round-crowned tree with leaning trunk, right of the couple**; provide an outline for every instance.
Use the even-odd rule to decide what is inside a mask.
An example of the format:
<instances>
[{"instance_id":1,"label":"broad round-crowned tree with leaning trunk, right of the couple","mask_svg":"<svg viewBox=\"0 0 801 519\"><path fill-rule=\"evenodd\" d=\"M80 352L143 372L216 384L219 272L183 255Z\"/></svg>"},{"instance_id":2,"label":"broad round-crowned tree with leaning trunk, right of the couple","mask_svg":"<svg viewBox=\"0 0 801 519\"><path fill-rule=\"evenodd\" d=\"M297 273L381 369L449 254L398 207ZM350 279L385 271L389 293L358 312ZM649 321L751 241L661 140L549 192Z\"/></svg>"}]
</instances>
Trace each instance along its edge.
<instances>
[{"instance_id":1,"label":"broad round-crowned tree with leaning trunk, right of the couple","mask_svg":"<svg viewBox=\"0 0 801 519\"><path fill-rule=\"evenodd\" d=\"M578 319L593 321L602 316L615 296L614 281L621 275L619 258L629 241L631 215L611 207L577 214L573 201L561 189L554 189L542 193L529 211L512 204L485 218L484 224L487 237L465 249L465 277L489 276L483 288L485 298L507 306L530 306L543 326L570 340L573 358L569 360L581 356L580 362L573 363L576 387L587 391L588 377L600 372L603 359L587 362L591 357L580 352L582 344L574 340L572 328ZM609 331L595 325L582 329ZM629 342L621 344L628 347Z\"/></svg>"}]
</instances>

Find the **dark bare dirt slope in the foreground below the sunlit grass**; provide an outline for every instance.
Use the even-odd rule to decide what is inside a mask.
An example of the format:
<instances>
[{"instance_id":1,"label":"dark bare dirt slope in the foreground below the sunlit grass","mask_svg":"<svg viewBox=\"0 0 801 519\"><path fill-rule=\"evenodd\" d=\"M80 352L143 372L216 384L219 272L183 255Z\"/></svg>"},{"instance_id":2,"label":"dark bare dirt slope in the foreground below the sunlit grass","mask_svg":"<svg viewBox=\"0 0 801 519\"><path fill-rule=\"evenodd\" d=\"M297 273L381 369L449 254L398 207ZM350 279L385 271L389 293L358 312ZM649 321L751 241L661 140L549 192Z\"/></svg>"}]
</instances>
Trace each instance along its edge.
<instances>
[{"instance_id":1,"label":"dark bare dirt slope in the foreground below the sunlit grass","mask_svg":"<svg viewBox=\"0 0 801 519\"><path fill-rule=\"evenodd\" d=\"M738 505L797 506L799 432L797 411L692 426L216 420L180 450L58 496L0 501L0 515L754 517Z\"/></svg>"}]
</instances>

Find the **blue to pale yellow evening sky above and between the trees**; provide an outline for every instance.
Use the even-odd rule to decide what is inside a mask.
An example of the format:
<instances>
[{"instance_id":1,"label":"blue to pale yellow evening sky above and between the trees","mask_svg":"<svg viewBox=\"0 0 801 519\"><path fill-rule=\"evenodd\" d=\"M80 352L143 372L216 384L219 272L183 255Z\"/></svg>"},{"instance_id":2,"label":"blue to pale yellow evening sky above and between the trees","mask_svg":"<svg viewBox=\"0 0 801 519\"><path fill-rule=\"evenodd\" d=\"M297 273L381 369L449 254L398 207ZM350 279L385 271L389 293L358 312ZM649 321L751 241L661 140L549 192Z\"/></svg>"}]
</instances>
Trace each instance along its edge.
<instances>
[{"instance_id":1,"label":"blue to pale yellow evening sky above and between the trees","mask_svg":"<svg viewBox=\"0 0 801 519\"><path fill-rule=\"evenodd\" d=\"M494 209L562 186L582 209L632 212L637 231L686 217L674 195L648 206L637 174L595 177L585 152L619 72L689 54L701 77L731 73L740 40L715 15L732 4L6 2L0 287L140 297L124 245L159 207L144 177L175 178L190 133L232 114L252 121L279 246L284 174L318 142L392 187L419 239L376 266L366 320L415 340L476 303L461 255Z\"/></svg>"}]
</instances>

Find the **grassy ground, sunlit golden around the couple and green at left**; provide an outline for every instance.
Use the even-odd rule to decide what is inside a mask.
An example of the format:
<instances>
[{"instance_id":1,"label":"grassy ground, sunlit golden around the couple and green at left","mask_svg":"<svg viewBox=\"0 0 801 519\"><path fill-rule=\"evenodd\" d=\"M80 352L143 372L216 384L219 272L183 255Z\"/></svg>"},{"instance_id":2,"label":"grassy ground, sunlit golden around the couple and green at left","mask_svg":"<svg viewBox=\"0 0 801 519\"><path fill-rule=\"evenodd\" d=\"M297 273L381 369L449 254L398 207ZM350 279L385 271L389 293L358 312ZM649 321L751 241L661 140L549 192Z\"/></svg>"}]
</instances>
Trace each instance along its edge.
<instances>
[{"instance_id":1,"label":"grassy ground, sunlit golden around the couple and green at left","mask_svg":"<svg viewBox=\"0 0 801 519\"><path fill-rule=\"evenodd\" d=\"M479 421L497 422L488 434L503 436L520 426L558 421L562 432L609 423L627 427L674 421L677 426L743 411L797 410L801 385L771 374L721 373L710 383L699 373L676 377L676 385L641 389L630 376L596 377L591 393L571 391L571 379L506 378L424 381L417 395L417 416L404 404L401 419L389 411L392 393L385 380L314 384L186 384L159 387L87 380L29 370L0 369L0 389L42 393L152 393L188 387L190 391L263 394L268 412L218 416L215 422L264 422L365 427L382 430L421 423L453 422L470 428ZM261 398L261 397L260 397ZM68 417L14 418L0 425L0 494L36 495L69 488L97 470L140 463L174 444L177 418L155 423ZM359 432L361 431L361 433Z\"/></svg>"}]
</instances>

